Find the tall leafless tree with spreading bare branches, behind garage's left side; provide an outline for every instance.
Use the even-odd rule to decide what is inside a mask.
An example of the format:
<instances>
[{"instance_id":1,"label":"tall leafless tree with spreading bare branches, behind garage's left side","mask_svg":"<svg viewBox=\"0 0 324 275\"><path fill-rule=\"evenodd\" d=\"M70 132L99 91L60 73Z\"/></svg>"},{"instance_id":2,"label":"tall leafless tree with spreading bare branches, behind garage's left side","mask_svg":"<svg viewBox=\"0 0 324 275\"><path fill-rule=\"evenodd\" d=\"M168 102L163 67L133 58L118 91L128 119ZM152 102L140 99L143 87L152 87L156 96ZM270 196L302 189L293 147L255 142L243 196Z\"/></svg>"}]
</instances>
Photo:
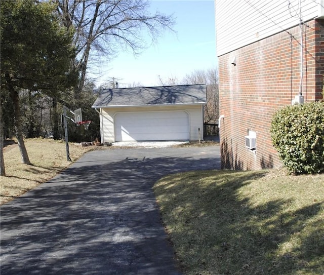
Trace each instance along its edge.
<instances>
[{"instance_id":1,"label":"tall leafless tree with spreading bare branches, behind garage's left side","mask_svg":"<svg viewBox=\"0 0 324 275\"><path fill-rule=\"evenodd\" d=\"M80 73L76 96L83 89L91 59L112 58L126 49L138 54L147 46L143 32L150 34L154 43L161 31L172 30L174 25L172 16L150 14L149 2L144 0L53 1L63 24L75 29L77 59L71 60L71 66Z\"/></svg>"}]
</instances>

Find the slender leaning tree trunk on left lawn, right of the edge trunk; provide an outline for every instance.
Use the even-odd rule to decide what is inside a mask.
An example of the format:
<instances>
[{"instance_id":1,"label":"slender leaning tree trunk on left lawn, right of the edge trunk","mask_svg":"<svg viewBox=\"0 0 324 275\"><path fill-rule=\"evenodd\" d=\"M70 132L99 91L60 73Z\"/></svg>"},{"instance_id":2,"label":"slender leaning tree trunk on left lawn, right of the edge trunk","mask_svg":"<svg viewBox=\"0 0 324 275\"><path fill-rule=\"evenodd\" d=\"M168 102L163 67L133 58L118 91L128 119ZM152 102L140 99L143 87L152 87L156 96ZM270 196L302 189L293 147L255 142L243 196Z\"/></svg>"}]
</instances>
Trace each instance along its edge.
<instances>
[{"instance_id":1,"label":"slender leaning tree trunk on left lawn, right of the edge trunk","mask_svg":"<svg viewBox=\"0 0 324 275\"><path fill-rule=\"evenodd\" d=\"M24 164L31 164L28 158L28 153L25 147L24 137L22 134L22 120L20 113L20 104L19 104L19 95L11 84L10 76L7 77L9 92L14 103L15 109L15 130L16 130L16 138L18 141L18 147L21 154L21 162Z\"/></svg>"}]
</instances>

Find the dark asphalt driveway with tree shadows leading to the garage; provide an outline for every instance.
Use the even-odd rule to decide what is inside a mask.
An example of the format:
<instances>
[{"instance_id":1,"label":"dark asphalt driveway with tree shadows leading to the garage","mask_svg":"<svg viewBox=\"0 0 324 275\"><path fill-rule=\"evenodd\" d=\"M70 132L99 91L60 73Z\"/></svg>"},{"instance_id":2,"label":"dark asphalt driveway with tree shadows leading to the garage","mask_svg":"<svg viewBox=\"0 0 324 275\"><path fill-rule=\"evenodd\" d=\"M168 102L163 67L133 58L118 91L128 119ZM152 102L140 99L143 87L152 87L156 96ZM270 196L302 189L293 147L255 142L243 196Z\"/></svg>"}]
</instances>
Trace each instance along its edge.
<instances>
[{"instance_id":1,"label":"dark asphalt driveway with tree shadows leading to the garage","mask_svg":"<svg viewBox=\"0 0 324 275\"><path fill-rule=\"evenodd\" d=\"M1 207L1 274L180 274L152 186L219 168L218 146L89 152Z\"/></svg>"}]
</instances>

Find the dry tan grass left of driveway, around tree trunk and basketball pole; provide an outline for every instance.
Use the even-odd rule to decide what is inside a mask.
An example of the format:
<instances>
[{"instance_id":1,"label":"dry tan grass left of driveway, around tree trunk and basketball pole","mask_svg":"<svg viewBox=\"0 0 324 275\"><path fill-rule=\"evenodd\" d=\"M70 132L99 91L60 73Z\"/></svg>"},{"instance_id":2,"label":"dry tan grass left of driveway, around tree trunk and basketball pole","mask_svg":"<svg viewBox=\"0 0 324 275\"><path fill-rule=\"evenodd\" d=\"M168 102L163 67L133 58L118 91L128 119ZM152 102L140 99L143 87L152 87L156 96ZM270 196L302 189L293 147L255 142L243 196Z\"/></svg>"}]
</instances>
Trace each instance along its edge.
<instances>
[{"instance_id":1,"label":"dry tan grass left of driveway, around tree trunk and basketball pole","mask_svg":"<svg viewBox=\"0 0 324 275\"><path fill-rule=\"evenodd\" d=\"M53 178L71 165L66 161L65 142L51 139L26 139L26 149L32 165L21 163L17 144L4 148L6 177L1 177L0 204L9 202L37 185ZM74 162L85 152L97 149L69 143L70 158Z\"/></svg>"}]
</instances>

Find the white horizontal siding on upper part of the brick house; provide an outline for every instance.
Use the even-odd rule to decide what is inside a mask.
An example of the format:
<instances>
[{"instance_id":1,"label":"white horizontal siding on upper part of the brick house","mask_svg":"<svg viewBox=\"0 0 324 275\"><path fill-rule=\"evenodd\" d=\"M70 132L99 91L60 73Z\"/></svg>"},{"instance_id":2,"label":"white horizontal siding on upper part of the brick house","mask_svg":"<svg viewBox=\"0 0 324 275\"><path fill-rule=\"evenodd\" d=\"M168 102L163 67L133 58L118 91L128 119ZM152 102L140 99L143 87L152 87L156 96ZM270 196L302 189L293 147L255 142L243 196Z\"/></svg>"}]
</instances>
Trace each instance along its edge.
<instances>
[{"instance_id":1,"label":"white horizontal siding on upper part of the brick house","mask_svg":"<svg viewBox=\"0 0 324 275\"><path fill-rule=\"evenodd\" d=\"M323 2L301 0L302 20L323 16ZM215 0L217 56L298 25L299 3L299 0Z\"/></svg>"}]
</instances>

